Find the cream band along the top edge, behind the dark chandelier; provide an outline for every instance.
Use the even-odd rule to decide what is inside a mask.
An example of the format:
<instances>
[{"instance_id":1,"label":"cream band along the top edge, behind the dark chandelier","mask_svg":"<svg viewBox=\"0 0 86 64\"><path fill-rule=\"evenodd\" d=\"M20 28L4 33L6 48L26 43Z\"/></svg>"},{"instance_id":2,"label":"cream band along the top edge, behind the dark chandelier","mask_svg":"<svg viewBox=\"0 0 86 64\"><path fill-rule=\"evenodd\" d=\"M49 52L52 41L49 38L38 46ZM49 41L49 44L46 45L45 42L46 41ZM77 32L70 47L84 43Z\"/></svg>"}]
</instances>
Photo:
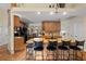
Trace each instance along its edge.
<instances>
[{"instance_id":1,"label":"cream band along the top edge, behind the dark chandelier","mask_svg":"<svg viewBox=\"0 0 86 64\"><path fill-rule=\"evenodd\" d=\"M49 5L56 3L17 3L20 8L49 8ZM85 3L65 3L65 8L83 8L86 7Z\"/></svg>"}]
</instances>

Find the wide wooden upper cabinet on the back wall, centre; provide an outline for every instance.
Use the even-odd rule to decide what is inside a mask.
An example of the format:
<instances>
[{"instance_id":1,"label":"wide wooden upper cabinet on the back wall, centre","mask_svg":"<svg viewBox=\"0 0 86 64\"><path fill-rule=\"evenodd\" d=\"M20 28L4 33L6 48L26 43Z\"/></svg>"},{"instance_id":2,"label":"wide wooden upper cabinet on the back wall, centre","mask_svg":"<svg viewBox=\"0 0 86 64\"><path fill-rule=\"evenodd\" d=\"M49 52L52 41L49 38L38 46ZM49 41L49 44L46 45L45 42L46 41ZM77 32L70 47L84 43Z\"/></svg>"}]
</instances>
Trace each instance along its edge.
<instances>
[{"instance_id":1,"label":"wide wooden upper cabinet on the back wall, centre","mask_svg":"<svg viewBox=\"0 0 86 64\"><path fill-rule=\"evenodd\" d=\"M46 33L60 33L61 24L58 21L42 22L42 30Z\"/></svg>"}]
</instances>

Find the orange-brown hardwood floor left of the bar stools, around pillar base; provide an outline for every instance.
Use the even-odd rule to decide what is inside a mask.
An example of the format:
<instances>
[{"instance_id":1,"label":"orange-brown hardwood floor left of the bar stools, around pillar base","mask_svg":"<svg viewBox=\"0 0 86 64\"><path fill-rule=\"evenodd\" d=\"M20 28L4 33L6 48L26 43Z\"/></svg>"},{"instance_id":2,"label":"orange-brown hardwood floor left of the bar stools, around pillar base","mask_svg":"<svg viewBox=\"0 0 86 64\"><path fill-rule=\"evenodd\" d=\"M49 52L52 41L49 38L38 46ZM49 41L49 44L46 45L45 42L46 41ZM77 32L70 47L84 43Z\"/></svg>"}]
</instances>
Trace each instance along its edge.
<instances>
[{"instance_id":1,"label":"orange-brown hardwood floor left of the bar stools, around pillar base","mask_svg":"<svg viewBox=\"0 0 86 64\"><path fill-rule=\"evenodd\" d=\"M26 60L26 49L10 54L7 46L0 46L0 61L24 61Z\"/></svg>"}]
</instances>

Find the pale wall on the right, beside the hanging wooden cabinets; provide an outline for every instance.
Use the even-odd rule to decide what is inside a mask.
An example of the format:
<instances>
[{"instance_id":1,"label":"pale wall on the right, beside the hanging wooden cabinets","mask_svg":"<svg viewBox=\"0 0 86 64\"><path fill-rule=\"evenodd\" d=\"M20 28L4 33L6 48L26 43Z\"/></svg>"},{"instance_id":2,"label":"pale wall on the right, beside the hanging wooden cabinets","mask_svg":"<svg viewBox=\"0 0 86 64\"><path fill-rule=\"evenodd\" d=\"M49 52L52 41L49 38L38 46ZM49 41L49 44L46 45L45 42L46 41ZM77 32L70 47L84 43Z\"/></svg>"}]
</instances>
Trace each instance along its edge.
<instances>
[{"instance_id":1,"label":"pale wall on the right, beside the hanging wooden cabinets","mask_svg":"<svg viewBox=\"0 0 86 64\"><path fill-rule=\"evenodd\" d=\"M78 40L86 40L86 16L78 16L61 21L61 29L66 30L69 38L75 38ZM85 42L86 51L86 42Z\"/></svg>"}]
</instances>

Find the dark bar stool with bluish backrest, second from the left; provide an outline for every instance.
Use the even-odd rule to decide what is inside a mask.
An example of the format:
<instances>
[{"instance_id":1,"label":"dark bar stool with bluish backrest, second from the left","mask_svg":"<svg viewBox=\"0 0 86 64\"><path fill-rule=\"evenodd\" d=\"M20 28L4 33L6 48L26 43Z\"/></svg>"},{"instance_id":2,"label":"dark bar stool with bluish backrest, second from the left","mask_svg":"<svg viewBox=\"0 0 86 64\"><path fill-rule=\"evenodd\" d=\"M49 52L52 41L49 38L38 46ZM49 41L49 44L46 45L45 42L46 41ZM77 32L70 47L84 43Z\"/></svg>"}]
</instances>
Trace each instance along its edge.
<instances>
[{"instance_id":1,"label":"dark bar stool with bluish backrest, second from the left","mask_svg":"<svg viewBox=\"0 0 86 64\"><path fill-rule=\"evenodd\" d=\"M42 44L42 41L35 41L34 51L35 51L35 60L36 60L36 56L42 56L42 60L44 60L44 44ZM41 52L41 55L36 54L38 51Z\"/></svg>"}]
</instances>

